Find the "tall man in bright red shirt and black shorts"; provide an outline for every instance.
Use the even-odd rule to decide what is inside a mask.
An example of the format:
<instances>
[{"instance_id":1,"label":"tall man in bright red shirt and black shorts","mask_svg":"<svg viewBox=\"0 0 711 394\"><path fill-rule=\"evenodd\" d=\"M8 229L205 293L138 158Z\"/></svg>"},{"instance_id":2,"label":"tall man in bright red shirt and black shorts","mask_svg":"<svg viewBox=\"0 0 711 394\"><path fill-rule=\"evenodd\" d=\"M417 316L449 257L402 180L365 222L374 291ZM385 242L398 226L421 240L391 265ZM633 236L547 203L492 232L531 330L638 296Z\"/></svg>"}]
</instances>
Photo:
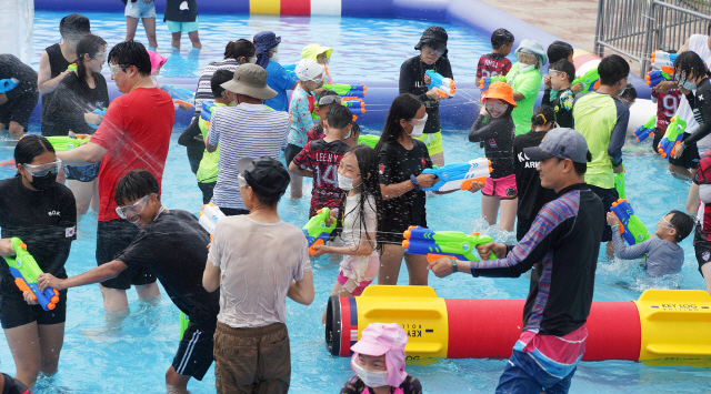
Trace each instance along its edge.
<instances>
[{"instance_id":1,"label":"tall man in bright red shirt and black shorts","mask_svg":"<svg viewBox=\"0 0 711 394\"><path fill-rule=\"evenodd\" d=\"M99 169L99 225L97 263L106 264L129 246L139 229L120 219L113 200L118 181L131 170L147 170L160 185L168 156L176 113L170 95L150 79L151 61L146 48L136 41L121 42L108 57L111 79L121 97L116 98L91 142L57 156L64 164L87 165L101 161ZM128 307L126 291L136 285L139 299L159 295L156 274L148 267L127 269L117 277L101 282L103 307Z\"/></svg>"}]
</instances>

